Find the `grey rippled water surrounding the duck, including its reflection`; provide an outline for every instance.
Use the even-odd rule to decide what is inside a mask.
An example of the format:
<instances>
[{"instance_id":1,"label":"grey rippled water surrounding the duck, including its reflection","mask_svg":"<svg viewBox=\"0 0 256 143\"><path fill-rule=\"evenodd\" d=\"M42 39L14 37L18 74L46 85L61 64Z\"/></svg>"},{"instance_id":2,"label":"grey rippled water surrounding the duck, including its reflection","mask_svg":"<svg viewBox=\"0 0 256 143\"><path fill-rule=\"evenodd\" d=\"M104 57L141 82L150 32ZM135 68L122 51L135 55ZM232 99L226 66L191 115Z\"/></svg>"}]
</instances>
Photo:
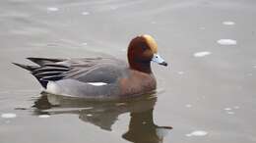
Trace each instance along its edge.
<instances>
[{"instance_id":1,"label":"grey rippled water surrounding the duck, including its reflection","mask_svg":"<svg viewBox=\"0 0 256 143\"><path fill-rule=\"evenodd\" d=\"M0 142L256 142L254 0L0 1ZM158 91L92 103L40 93L26 57L125 59L156 37Z\"/></svg>"}]
</instances>

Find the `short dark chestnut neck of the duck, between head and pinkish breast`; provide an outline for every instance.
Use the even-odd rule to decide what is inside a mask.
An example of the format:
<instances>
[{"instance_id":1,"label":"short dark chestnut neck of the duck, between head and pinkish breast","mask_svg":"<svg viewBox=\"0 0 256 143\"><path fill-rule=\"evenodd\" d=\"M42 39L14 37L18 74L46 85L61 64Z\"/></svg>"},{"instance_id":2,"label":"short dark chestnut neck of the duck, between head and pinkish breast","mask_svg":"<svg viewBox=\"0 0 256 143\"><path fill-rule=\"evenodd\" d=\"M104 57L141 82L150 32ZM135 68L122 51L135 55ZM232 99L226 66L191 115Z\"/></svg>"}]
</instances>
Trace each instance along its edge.
<instances>
[{"instance_id":1,"label":"short dark chestnut neck of the duck, between head and pinkish breast","mask_svg":"<svg viewBox=\"0 0 256 143\"><path fill-rule=\"evenodd\" d=\"M139 62L129 61L129 65L132 70L152 73L151 62L139 63Z\"/></svg>"}]
</instances>

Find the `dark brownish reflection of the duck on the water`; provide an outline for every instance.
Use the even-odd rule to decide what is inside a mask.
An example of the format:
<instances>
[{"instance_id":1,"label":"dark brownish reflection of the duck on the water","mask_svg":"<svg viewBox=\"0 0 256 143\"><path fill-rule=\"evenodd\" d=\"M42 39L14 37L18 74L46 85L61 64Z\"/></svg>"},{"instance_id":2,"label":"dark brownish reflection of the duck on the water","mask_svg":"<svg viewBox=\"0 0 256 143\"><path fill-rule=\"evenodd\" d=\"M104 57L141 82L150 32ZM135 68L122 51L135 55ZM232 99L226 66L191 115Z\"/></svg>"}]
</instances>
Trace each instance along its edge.
<instances>
[{"instance_id":1,"label":"dark brownish reflection of the duck on the water","mask_svg":"<svg viewBox=\"0 0 256 143\"><path fill-rule=\"evenodd\" d=\"M95 124L104 130L111 130L118 116L130 113L129 130L123 138L135 143L160 143L172 128L158 126L153 120L156 95L146 95L119 102L89 102L83 99L42 93L34 102L35 115L77 114L79 119Z\"/></svg>"}]
</instances>

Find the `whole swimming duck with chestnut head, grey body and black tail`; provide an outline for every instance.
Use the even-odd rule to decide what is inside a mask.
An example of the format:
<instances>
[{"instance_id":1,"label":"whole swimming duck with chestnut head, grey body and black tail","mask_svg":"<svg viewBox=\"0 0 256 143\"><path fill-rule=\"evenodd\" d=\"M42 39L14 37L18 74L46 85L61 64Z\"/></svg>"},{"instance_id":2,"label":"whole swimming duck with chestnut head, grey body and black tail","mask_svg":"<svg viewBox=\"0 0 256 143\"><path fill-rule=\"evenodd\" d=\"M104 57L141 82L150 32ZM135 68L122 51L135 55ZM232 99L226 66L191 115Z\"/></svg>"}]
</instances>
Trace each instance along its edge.
<instances>
[{"instance_id":1,"label":"whole swimming duck with chestnut head, grey body and black tail","mask_svg":"<svg viewBox=\"0 0 256 143\"><path fill-rule=\"evenodd\" d=\"M167 66L153 36L134 37L128 46L128 62L114 57L27 58L36 65L14 65L31 71L43 92L88 100L116 100L156 91L151 63Z\"/></svg>"}]
</instances>

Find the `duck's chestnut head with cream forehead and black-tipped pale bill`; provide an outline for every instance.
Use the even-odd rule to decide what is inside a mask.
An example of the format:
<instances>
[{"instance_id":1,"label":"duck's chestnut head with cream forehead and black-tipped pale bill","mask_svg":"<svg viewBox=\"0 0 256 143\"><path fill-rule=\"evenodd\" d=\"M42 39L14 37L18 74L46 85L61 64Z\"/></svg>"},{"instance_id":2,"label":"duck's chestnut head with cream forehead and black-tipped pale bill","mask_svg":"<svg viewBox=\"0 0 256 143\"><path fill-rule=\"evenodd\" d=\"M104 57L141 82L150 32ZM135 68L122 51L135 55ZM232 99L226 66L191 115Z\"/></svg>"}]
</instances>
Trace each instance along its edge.
<instances>
[{"instance_id":1,"label":"duck's chestnut head with cream forehead and black-tipped pale bill","mask_svg":"<svg viewBox=\"0 0 256 143\"><path fill-rule=\"evenodd\" d=\"M151 72L151 62L167 66L158 53L156 40L148 34L137 36L128 47L128 61L131 69Z\"/></svg>"}]
</instances>

